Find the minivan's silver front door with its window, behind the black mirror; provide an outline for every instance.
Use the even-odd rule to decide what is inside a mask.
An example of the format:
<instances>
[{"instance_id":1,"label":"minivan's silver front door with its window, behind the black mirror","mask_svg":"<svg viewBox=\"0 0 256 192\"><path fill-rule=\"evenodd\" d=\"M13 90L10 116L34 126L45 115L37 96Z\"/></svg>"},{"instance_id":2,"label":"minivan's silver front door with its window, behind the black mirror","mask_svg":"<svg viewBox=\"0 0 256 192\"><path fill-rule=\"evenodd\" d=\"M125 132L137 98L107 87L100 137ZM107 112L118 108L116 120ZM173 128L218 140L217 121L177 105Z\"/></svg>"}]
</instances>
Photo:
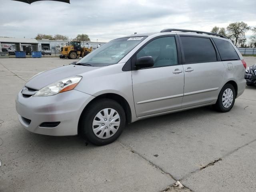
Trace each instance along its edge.
<instances>
[{"instance_id":1,"label":"minivan's silver front door with its window, behind the black mirror","mask_svg":"<svg viewBox=\"0 0 256 192\"><path fill-rule=\"evenodd\" d=\"M137 117L181 108L184 72L178 64L175 36L156 38L136 58L152 56L154 66L132 71L132 88Z\"/></svg>"}]
</instances>

